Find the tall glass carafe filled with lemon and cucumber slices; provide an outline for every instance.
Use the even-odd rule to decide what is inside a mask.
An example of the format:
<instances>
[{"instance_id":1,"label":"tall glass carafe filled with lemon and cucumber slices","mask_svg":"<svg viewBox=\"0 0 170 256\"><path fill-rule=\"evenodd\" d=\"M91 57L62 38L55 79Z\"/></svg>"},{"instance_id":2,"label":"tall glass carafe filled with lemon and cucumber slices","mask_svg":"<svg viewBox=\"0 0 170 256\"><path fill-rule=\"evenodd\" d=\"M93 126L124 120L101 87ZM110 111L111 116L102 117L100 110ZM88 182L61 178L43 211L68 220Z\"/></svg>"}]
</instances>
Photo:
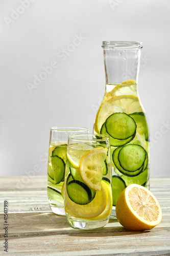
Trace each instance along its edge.
<instances>
[{"instance_id":1,"label":"tall glass carafe filled with lemon and cucumber slices","mask_svg":"<svg viewBox=\"0 0 170 256\"><path fill-rule=\"evenodd\" d=\"M116 201L126 186L136 183L149 189L149 129L137 90L141 43L103 41L102 47L106 88L93 131L110 137L111 218L116 218Z\"/></svg>"}]
</instances>

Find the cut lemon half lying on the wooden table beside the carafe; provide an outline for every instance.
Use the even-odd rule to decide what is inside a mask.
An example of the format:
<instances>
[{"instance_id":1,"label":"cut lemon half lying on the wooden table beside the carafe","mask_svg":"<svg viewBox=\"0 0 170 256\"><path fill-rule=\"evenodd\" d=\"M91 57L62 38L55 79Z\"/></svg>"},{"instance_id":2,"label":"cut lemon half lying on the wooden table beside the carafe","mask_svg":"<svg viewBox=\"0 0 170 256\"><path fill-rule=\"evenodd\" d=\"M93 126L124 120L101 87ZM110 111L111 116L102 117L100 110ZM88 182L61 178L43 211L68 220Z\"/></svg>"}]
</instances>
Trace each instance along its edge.
<instances>
[{"instance_id":1,"label":"cut lemon half lying on the wooden table beside the carafe","mask_svg":"<svg viewBox=\"0 0 170 256\"><path fill-rule=\"evenodd\" d=\"M128 230L149 230L162 219L161 207L147 188L131 184L120 194L116 203L117 220Z\"/></svg>"}]
</instances>

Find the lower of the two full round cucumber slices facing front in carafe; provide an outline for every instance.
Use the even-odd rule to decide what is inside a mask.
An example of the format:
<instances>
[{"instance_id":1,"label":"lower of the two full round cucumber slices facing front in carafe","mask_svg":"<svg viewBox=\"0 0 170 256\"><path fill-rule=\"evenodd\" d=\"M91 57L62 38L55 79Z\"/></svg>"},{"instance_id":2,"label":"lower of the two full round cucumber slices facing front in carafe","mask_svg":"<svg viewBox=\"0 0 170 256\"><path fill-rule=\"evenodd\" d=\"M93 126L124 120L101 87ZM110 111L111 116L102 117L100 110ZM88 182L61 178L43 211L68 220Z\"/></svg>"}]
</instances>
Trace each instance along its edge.
<instances>
[{"instance_id":1,"label":"lower of the two full round cucumber slices facing front in carafe","mask_svg":"<svg viewBox=\"0 0 170 256\"><path fill-rule=\"evenodd\" d=\"M140 145L129 144L123 146L118 153L120 166L128 172L140 169L145 161L146 152Z\"/></svg>"}]
</instances>

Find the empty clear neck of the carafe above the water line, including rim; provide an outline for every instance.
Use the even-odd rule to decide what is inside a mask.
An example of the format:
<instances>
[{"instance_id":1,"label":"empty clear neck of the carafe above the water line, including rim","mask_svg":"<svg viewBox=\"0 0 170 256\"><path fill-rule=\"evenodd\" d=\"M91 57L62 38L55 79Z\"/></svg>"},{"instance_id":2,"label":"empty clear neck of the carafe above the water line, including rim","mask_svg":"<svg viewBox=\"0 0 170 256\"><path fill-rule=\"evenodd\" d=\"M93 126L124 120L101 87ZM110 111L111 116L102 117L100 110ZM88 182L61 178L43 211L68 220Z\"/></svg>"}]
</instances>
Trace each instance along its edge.
<instances>
[{"instance_id":1,"label":"empty clear neck of the carafe above the water line, including rim","mask_svg":"<svg viewBox=\"0 0 170 256\"><path fill-rule=\"evenodd\" d=\"M107 84L137 83L141 43L103 41Z\"/></svg>"}]
</instances>

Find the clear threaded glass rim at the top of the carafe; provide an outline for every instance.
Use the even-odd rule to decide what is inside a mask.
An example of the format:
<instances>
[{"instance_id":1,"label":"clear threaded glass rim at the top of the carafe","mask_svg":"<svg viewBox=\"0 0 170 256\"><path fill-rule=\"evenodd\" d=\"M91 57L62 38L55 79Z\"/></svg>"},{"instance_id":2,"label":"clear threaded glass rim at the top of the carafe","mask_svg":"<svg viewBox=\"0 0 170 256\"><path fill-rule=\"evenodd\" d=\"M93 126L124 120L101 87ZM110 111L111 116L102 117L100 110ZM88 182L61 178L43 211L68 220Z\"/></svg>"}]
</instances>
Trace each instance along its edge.
<instances>
[{"instance_id":1,"label":"clear threaded glass rim at the top of the carafe","mask_svg":"<svg viewBox=\"0 0 170 256\"><path fill-rule=\"evenodd\" d=\"M103 49L127 49L137 50L142 48L142 42L138 41L103 41Z\"/></svg>"}]
</instances>

